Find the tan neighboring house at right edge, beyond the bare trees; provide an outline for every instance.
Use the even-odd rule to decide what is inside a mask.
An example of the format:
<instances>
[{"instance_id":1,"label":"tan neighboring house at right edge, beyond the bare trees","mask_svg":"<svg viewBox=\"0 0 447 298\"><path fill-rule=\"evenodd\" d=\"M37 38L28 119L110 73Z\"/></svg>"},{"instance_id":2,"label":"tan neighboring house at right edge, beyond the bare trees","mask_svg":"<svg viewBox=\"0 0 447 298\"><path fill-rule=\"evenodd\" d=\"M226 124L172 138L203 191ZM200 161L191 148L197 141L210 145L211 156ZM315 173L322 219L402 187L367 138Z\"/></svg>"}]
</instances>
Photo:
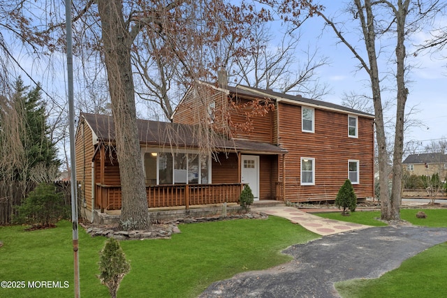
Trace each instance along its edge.
<instances>
[{"instance_id":1,"label":"tan neighboring house at right edge, beyond the bare trees","mask_svg":"<svg viewBox=\"0 0 447 298\"><path fill-rule=\"evenodd\" d=\"M402 162L402 165L409 174L431 176L437 173L441 180L447 177L447 154L410 154Z\"/></svg>"}]
</instances>

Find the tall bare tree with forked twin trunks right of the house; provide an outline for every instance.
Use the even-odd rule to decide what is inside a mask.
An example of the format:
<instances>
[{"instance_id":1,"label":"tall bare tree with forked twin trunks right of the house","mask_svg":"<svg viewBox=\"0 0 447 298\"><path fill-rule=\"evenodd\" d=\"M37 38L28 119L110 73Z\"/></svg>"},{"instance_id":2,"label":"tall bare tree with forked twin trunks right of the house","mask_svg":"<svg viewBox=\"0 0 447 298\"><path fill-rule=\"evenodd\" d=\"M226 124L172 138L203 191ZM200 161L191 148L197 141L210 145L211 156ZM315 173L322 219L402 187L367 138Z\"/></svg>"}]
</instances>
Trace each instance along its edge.
<instances>
[{"instance_id":1,"label":"tall bare tree with forked twin trunks right of the house","mask_svg":"<svg viewBox=\"0 0 447 298\"><path fill-rule=\"evenodd\" d=\"M367 58L362 57L359 47L349 42L346 33L337 26L332 18L321 13L321 17L330 26L339 40L351 50L354 57L360 62L360 67L365 69L371 81L372 98L374 102L374 113L376 115L376 140L379 152L379 180L381 198L381 218L386 220L400 219L400 196L402 190L402 154L404 147L404 121L405 106L408 96L406 88L406 64L405 40L409 34L417 31L424 20L433 16L436 12L438 1L360 1L354 0L349 8L349 13L360 24L360 36L367 53ZM383 17L381 17L383 16ZM409 16L413 16L410 18ZM396 90L395 100L395 126L393 132L393 168L392 168L392 190L388 192L388 153L385 132L385 121L383 117L383 103L381 96L381 76L378 64L379 53L377 52L377 40L381 37L392 35L395 40L394 56L390 61L395 66L394 77Z\"/></svg>"}]
</instances>

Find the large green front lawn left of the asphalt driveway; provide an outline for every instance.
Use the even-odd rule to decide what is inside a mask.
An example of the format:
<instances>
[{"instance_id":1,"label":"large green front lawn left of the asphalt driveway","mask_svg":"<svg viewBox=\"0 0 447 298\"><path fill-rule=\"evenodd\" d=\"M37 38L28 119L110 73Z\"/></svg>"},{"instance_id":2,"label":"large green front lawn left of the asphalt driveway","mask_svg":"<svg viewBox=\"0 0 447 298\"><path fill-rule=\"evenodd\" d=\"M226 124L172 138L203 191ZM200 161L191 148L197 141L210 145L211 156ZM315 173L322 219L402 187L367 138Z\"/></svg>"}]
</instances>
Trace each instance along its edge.
<instances>
[{"instance_id":1,"label":"large green front lawn left of the asphalt driveway","mask_svg":"<svg viewBox=\"0 0 447 298\"><path fill-rule=\"evenodd\" d=\"M131 271L118 297L195 297L210 283L248 270L266 269L291 260L280 251L318 235L283 218L180 225L172 239L121 241ZM0 227L0 281L64 281L69 288L4 289L0 297L71 297L73 245L71 223L24 232ZM101 285L98 252L104 237L79 233L82 297L110 297Z\"/></svg>"}]
</instances>

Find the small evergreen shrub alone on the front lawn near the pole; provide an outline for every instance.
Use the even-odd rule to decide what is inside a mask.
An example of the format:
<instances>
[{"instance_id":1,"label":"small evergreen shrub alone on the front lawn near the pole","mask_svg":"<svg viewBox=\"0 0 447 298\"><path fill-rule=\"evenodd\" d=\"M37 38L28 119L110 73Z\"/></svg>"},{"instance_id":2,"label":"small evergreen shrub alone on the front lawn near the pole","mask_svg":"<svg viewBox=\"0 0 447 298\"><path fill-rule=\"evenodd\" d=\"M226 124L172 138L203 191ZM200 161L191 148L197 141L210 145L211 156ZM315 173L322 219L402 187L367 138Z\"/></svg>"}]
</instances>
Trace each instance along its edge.
<instances>
[{"instance_id":1,"label":"small evergreen shrub alone on the front lawn near the pole","mask_svg":"<svg viewBox=\"0 0 447 298\"><path fill-rule=\"evenodd\" d=\"M109 288L110 296L117 297L119 283L131 270L131 265L126 260L126 255L116 239L109 238L99 253L98 278L103 285Z\"/></svg>"}]
</instances>

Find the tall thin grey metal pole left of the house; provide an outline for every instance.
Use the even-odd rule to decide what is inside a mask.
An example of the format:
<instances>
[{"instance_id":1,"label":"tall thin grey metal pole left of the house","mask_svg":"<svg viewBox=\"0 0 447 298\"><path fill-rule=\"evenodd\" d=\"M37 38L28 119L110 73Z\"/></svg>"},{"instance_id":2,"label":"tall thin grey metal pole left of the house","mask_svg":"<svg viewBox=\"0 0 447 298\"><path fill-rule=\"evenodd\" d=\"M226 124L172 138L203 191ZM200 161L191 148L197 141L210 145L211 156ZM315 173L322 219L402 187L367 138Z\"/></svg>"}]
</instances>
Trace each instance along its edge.
<instances>
[{"instance_id":1,"label":"tall thin grey metal pole left of the house","mask_svg":"<svg viewBox=\"0 0 447 298\"><path fill-rule=\"evenodd\" d=\"M73 259L75 273L75 298L80 297L79 256L78 256L78 200L76 195L75 161L75 109L73 96L73 38L71 36L71 0L65 1L66 47L68 72L68 121L70 133L70 172L71 172L71 222L73 226Z\"/></svg>"}]
</instances>

